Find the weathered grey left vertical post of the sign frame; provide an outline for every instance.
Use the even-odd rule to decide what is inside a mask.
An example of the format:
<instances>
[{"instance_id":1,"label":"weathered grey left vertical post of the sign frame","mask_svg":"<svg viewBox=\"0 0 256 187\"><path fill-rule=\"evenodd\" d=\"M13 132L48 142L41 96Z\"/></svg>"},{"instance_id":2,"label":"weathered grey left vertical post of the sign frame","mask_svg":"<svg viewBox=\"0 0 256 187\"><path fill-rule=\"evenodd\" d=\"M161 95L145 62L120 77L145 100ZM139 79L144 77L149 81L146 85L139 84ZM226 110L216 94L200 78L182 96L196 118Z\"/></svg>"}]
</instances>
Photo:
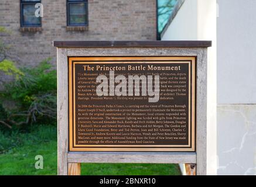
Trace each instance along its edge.
<instances>
[{"instance_id":1,"label":"weathered grey left vertical post of the sign frame","mask_svg":"<svg viewBox=\"0 0 256 187\"><path fill-rule=\"evenodd\" d=\"M67 49L57 48L57 134L58 175L67 175L69 102Z\"/></svg>"}]
</instances>

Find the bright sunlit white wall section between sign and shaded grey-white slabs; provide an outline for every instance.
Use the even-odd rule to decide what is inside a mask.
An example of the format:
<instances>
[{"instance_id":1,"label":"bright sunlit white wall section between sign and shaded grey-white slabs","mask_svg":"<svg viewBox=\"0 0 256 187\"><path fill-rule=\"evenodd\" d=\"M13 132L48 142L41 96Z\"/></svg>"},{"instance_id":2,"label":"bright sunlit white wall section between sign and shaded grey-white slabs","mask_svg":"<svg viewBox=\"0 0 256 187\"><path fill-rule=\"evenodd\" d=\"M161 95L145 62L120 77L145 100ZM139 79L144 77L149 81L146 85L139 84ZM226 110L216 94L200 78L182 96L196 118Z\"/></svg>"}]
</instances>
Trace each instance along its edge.
<instances>
[{"instance_id":1,"label":"bright sunlit white wall section between sign and shaded grey-white slabs","mask_svg":"<svg viewBox=\"0 0 256 187\"><path fill-rule=\"evenodd\" d=\"M207 174L216 175L216 0L186 0L162 40L212 40L207 64Z\"/></svg>"}]
</instances>

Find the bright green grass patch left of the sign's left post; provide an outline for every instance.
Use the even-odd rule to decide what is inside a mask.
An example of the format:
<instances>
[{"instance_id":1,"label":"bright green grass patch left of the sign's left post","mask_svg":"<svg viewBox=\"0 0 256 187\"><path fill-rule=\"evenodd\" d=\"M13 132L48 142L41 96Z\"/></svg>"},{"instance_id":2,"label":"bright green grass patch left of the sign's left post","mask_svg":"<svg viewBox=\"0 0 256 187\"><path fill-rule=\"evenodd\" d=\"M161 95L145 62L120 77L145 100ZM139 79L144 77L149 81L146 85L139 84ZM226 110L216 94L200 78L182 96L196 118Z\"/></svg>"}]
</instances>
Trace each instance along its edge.
<instances>
[{"instance_id":1,"label":"bright green grass patch left of the sign's left post","mask_svg":"<svg viewBox=\"0 0 256 187\"><path fill-rule=\"evenodd\" d=\"M56 141L13 148L0 155L0 175L56 175ZM35 156L43 156L43 169L35 169Z\"/></svg>"}]
</instances>

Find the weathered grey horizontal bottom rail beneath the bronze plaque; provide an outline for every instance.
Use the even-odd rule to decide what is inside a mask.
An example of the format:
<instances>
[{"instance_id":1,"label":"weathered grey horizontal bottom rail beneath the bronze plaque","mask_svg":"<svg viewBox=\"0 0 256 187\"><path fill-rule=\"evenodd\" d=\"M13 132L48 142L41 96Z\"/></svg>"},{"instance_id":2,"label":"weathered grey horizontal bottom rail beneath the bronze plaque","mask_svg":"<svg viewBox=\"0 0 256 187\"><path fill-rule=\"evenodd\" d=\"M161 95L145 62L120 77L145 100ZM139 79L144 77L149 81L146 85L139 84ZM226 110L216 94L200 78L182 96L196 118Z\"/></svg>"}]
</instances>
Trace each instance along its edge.
<instances>
[{"instance_id":1,"label":"weathered grey horizontal bottom rail beneath the bronze plaque","mask_svg":"<svg viewBox=\"0 0 256 187\"><path fill-rule=\"evenodd\" d=\"M87 163L196 163L196 153L186 152L69 152L69 162Z\"/></svg>"}]
</instances>

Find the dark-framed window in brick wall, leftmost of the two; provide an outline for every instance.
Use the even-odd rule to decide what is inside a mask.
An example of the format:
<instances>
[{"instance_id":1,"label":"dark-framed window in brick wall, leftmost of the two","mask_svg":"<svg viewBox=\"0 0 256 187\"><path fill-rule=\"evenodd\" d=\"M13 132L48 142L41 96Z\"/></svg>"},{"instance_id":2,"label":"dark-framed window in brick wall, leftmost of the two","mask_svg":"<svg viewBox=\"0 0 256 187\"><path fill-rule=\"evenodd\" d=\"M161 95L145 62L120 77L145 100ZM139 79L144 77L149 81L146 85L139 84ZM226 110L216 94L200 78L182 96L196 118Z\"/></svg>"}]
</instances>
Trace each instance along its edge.
<instances>
[{"instance_id":1,"label":"dark-framed window in brick wall, leftmost of the two","mask_svg":"<svg viewBox=\"0 0 256 187\"><path fill-rule=\"evenodd\" d=\"M42 26L41 18L35 16L35 5L40 0L21 0L21 27L40 27Z\"/></svg>"}]
</instances>

